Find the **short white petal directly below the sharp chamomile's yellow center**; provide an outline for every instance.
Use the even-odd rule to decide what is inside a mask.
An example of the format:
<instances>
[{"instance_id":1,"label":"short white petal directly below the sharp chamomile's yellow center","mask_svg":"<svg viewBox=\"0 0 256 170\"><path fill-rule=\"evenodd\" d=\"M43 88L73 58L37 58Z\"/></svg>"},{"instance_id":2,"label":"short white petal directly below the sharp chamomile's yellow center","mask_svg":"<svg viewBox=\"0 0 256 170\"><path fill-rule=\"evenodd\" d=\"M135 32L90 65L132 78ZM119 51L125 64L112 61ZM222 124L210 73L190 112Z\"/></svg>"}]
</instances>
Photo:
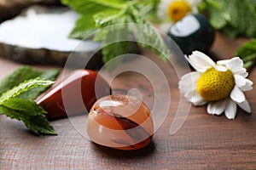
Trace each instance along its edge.
<instances>
[{"instance_id":1,"label":"short white petal directly below the sharp chamomile's yellow center","mask_svg":"<svg viewBox=\"0 0 256 170\"><path fill-rule=\"evenodd\" d=\"M207 105L207 112L212 115L221 115L227 105L227 100L219 100L215 102L210 102Z\"/></svg>"}]
</instances>

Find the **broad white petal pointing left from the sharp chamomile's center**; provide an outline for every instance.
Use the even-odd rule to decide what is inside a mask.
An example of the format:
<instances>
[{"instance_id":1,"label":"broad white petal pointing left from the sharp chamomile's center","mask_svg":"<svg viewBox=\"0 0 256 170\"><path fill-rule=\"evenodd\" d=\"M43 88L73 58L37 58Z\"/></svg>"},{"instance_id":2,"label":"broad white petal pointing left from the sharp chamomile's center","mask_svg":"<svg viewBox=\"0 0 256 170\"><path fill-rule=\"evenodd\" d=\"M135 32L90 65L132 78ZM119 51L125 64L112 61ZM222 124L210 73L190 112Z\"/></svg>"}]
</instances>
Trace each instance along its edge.
<instances>
[{"instance_id":1,"label":"broad white petal pointing left from the sharp chamomile's center","mask_svg":"<svg viewBox=\"0 0 256 170\"><path fill-rule=\"evenodd\" d=\"M199 72L190 72L181 77L178 82L178 88L182 94L186 94L187 92L194 90L196 88L196 82L198 78L201 76Z\"/></svg>"}]
</instances>

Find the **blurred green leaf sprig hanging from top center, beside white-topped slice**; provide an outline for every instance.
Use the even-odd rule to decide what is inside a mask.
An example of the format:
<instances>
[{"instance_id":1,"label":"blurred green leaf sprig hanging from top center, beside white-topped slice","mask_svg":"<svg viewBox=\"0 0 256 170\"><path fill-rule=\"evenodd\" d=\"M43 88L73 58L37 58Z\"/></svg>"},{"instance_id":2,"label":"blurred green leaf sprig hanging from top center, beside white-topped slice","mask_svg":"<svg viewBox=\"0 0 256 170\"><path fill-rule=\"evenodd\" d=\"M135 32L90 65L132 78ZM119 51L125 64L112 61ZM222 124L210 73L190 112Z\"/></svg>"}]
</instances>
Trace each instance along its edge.
<instances>
[{"instance_id":1,"label":"blurred green leaf sprig hanging from top center, beside white-topped slice","mask_svg":"<svg viewBox=\"0 0 256 170\"><path fill-rule=\"evenodd\" d=\"M127 54L129 42L151 48L162 59L170 56L160 33L148 22L159 0L62 0L79 13L79 20L70 37L83 39L96 31L95 41L102 42L103 61ZM133 25L129 25L133 23ZM137 32L137 33L135 33ZM113 63L113 69L117 63Z\"/></svg>"}]
</instances>

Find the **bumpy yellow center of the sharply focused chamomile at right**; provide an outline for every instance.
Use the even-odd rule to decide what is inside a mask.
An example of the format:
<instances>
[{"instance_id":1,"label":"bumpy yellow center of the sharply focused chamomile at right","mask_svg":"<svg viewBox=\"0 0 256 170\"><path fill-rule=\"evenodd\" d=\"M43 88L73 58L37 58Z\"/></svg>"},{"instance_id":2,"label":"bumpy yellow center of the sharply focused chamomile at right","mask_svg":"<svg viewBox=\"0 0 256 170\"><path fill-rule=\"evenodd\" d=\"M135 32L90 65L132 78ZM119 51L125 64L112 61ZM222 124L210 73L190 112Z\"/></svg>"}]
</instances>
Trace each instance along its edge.
<instances>
[{"instance_id":1,"label":"bumpy yellow center of the sharply focused chamomile at right","mask_svg":"<svg viewBox=\"0 0 256 170\"><path fill-rule=\"evenodd\" d=\"M234 86L235 78L230 70L217 71L212 67L198 79L196 90L203 99L214 101L228 97Z\"/></svg>"}]
</instances>

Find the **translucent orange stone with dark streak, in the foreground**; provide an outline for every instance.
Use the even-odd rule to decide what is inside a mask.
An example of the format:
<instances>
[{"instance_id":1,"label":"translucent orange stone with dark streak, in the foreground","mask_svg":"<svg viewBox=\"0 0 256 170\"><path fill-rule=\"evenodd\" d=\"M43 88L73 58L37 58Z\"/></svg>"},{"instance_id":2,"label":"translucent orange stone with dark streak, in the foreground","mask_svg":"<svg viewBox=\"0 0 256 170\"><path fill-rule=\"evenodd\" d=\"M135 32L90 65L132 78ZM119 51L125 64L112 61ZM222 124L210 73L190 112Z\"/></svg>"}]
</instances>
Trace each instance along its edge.
<instances>
[{"instance_id":1,"label":"translucent orange stone with dark streak, in the foreground","mask_svg":"<svg viewBox=\"0 0 256 170\"><path fill-rule=\"evenodd\" d=\"M154 124L147 105L140 99L110 95L92 106L87 133L96 144L119 150L137 150L152 140Z\"/></svg>"}]
</instances>

